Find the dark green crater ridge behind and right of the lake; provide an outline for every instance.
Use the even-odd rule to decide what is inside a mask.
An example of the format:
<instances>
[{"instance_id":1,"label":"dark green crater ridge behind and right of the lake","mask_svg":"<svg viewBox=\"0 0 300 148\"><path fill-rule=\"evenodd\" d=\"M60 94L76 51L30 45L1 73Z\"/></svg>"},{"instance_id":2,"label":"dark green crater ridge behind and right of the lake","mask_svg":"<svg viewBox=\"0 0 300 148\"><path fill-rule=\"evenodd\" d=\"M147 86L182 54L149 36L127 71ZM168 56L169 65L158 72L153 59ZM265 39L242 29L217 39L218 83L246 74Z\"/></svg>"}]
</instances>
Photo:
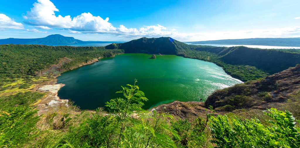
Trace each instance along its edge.
<instances>
[{"instance_id":1,"label":"dark green crater ridge behind and right of the lake","mask_svg":"<svg viewBox=\"0 0 300 148\"><path fill-rule=\"evenodd\" d=\"M125 53L172 54L196 58L221 66L226 73L242 81L262 78L300 63L299 52L280 49L215 47L187 45L170 37L140 38L126 43L113 43L106 49L122 49Z\"/></svg>"}]
</instances>

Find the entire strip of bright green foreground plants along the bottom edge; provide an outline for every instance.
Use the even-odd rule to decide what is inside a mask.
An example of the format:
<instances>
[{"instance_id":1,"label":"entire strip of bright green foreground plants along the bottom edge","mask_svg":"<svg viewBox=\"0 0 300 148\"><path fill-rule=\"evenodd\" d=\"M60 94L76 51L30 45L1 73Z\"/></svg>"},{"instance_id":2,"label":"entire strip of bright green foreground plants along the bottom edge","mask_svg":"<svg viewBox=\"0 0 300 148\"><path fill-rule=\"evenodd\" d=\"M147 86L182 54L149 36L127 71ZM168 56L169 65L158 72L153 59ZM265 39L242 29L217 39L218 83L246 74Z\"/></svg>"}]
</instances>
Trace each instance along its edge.
<instances>
[{"instance_id":1,"label":"entire strip of bright green foreground plants along the bottom edge","mask_svg":"<svg viewBox=\"0 0 300 148\"><path fill-rule=\"evenodd\" d=\"M265 112L272 118L268 124L214 114L189 123L163 111L143 111L148 99L135 84L117 93L124 98L107 102L110 114L102 108L92 114L69 109L39 118L26 104L0 111L0 147L300 146L300 129L289 111L271 108Z\"/></svg>"}]
</instances>

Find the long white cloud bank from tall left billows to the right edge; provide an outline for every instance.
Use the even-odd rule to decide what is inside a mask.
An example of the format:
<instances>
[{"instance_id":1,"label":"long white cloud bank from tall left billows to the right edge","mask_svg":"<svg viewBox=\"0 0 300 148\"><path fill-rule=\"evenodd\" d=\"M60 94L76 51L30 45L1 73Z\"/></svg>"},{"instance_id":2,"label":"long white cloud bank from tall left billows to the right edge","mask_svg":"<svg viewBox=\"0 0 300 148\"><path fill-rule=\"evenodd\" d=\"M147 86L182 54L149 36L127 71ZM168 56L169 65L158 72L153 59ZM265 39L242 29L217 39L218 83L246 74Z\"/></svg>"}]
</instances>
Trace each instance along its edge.
<instances>
[{"instance_id":1,"label":"long white cloud bank from tall left billows to the right edge","mask_svg":"<svg viewBox=\"0 0 300 148\"><path fill-rule=\"evenodd\" d=\"M23 16L26 24L43 26L44 28L57 28L68 30L69 33L92 33L92 34L112 34L120 37L136 39L139 37L173 37L180 41L200 41L200 40L222 40L241 39L255 37L299 37L300 27L291 26L287 28L246 30L246 31L224 31L224 32L194 32L180 33L175 29L168 29L161 25L143 26L141 28L126 28L120 25L114 27L109 18L102 19L100 16L93 16L91 13L81 13L71 18L67 16L55 16L59 10L49 0L38 0L33 4L26 16ZM269 14L271 16L274 14ZM299 19L296 17L295 19ZM38 27L37 27L38 28ZM42 27L40 27L42 28Z\"/></svg>"}]
</instances>

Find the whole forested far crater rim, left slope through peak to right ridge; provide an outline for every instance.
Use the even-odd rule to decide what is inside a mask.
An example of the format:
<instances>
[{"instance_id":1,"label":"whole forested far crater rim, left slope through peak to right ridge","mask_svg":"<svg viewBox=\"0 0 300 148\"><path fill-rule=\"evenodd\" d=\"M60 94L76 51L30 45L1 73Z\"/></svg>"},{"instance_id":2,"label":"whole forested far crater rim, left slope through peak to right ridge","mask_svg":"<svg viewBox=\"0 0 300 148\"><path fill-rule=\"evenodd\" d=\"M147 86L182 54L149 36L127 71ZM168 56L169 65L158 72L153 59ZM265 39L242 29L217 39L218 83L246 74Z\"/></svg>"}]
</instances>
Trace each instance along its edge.
<instances>
[{"instance_id":1,"label":"whole forested far crater rim, left slope through peak to right ridge","mask_svg":"<svg viewBox=\"0 0 300 148\"><path fill-rule=\"evenodd\" d=\"M173 54L209 61L221 66L226 73L242 81L262 78L300 63L300 53L292 49L196 46L177 40L170 42L167 37L160 37L113 43L106 47L0 45L0 73L2 73L1 78L35 76L49 69L51 65L59 64L64 57L72 59L57 68L59 73L99 57L110 57L124 52Z\"/></svg>"}]
</instances>

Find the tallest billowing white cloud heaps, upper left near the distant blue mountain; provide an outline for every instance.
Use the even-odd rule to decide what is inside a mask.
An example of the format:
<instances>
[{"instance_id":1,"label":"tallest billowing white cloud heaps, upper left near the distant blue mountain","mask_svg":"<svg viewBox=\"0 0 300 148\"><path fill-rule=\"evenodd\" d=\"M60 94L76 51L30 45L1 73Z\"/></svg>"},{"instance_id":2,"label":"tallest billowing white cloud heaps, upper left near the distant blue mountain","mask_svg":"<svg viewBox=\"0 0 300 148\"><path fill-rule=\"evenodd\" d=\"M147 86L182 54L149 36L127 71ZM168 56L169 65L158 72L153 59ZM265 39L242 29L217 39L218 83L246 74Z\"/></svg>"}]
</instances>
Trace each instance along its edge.
<instances>
[{"instance_id":1,"label":"tallest billowing white cloud heaps, upper left near the distant blue mountain","mask_svg":"<svg viewBox=\"0 0 300 148\"><path fill-rule=\"evenodd\" d=\"M30 25L42 25L55 28L68 28L74 31L91 31L91 32L110 32L115 31L109 18L102 19L100 16L93 16L91 13L82 13L73 19L68 16L55 16L58 9L49 0L38 0L33 4L33 8L27 11L24 19L33 21L25 21Z\"/></svg>"}]
</instances>

